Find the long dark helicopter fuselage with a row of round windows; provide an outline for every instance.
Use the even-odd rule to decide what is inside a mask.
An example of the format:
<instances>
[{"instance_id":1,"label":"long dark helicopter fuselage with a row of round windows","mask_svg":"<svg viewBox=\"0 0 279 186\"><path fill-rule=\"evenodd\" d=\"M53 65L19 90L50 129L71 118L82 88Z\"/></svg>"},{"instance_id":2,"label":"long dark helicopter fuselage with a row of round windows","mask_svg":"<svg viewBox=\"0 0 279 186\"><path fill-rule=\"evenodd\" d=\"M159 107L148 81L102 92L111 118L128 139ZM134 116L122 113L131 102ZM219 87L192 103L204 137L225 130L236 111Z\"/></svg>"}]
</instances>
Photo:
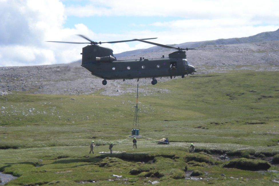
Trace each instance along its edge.
<instances>
[{"instance_id":1,"label":"long dark helicopter fuselage with a row of round windows","mask_svg":"<svg viewBox=\"0 0 279 186\"><path fill-rule=\"evenodd\" d=\"M186 59L181 58L92 61L82 66L92 75L108 80L183 76L195 71Z\"/></svg>"}]
</instances>

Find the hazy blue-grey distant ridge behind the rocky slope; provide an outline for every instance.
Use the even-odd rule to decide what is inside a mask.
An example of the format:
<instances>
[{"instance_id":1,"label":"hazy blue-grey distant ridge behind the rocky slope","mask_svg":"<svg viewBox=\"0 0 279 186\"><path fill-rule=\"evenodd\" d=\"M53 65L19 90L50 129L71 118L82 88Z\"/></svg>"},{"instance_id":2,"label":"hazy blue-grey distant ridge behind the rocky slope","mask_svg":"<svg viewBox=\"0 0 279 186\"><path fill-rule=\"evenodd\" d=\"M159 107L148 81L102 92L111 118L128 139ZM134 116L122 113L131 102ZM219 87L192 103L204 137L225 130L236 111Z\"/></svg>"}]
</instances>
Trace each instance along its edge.
<instances>
[{"instance_id":1,"label":"hazy blue-grey distant ridge behind the rocky slope","mask_svg":"<svg viewBox=\"0 0 279 186\"><path fill-rule=\"evenodd\" d=\"M262 32L254 36L243 37L243 38L218 39L218 40L200 41L200 42L186 42L174 46L181 47L181 48L198 48L207 45L243 44L243 43L255 43L255 42L266 42L266 41L278 41L278 40L279 40L279 29L273 32ZM146 49L138 49L138 50L122 52L119 54L114 54L114 56L119 58L125 56L133 56L133 55L146 54L151 52L162 52L162 51L169 51L169 50L170 49L168 48L153 46Z\"/></svg>"}]
</instances>

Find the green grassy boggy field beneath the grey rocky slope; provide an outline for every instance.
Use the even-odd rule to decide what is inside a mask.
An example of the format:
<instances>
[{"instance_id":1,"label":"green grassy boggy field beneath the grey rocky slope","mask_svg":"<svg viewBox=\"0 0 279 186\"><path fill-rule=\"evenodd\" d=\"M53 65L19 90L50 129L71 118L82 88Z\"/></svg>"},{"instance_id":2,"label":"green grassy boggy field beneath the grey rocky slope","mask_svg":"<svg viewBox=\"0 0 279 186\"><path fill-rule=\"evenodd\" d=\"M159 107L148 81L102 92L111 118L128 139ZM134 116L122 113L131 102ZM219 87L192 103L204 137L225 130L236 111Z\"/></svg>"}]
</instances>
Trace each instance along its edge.
<instances>
[{"instance_id":1,"label":"green grassy boggy field beneath the grey rocky slope","mask_svg":"<svg viewBox=\"0 0 279 186\"><path fill-rule=\"evenodd\" d=\"M278 77L279 72L231 71L141 87L150 92L139 93L140 134L167 137L179 146L141 138L136 150L131 139L119 143L133 128L135 93L1 96L0 171L19 176L8 185L141 185L149 180L159 181L156 185L275 185L276 172L223 168L226 162L217 157L225 152L239 157L245 151L251 158L263 154L270 160L279 153ZM89 155L91 140L99 145L94 155ZM108 152L110 142L116 144L113 150L126 155L99 157L97 152ZM189 155L185 147L191 142L197 151L208 153L195 156L214 162L188 162L186 177L199 170L204 174L198 178L203 179L184 179ZM149 156L153 163L140 163ZM100 167L101 162L107 164ZM143 173L131 174L133 168ZM279 167L273 164L269 170ZM125 179L108 181L115 179L112 174Z\"/></svg>"}]
</instances>

